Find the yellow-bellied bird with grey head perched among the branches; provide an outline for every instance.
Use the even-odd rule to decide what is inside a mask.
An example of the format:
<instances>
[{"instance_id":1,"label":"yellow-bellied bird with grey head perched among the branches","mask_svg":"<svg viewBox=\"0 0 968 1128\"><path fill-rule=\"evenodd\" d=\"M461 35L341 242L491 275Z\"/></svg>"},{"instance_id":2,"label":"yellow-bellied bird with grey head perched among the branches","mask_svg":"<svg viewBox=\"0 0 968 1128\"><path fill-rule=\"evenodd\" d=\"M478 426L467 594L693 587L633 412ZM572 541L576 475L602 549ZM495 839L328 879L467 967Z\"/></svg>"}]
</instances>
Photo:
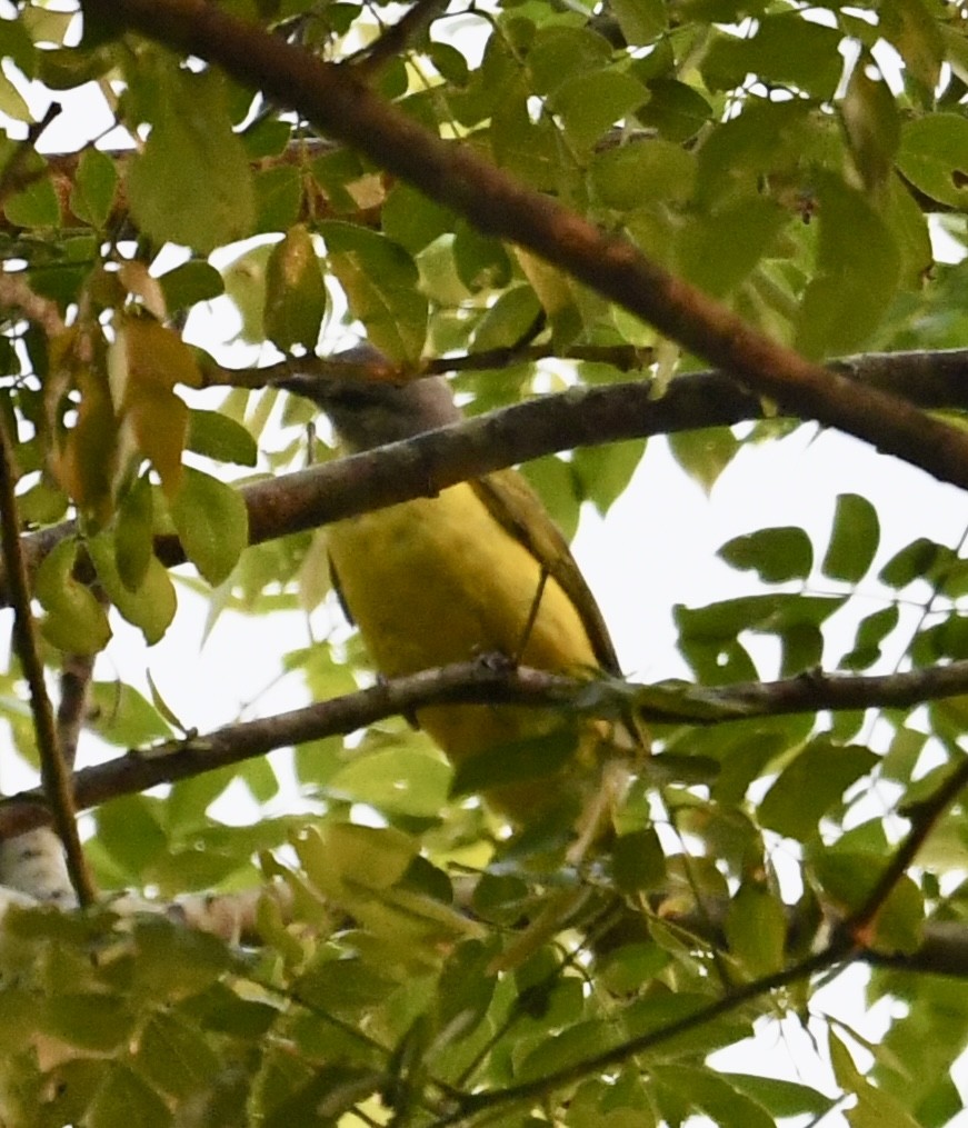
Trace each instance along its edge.
<instances>
[{"instance_id":1,"label":"yellow-bellied bird with grey head perched among the branches","mask_svg":"<svg viewBox=\"0 0 968 1128\"><path fill-rule=\"evenodd\" d=\"M368 345L335 359L386 367ZM282 386L314 399L350 451L461 418L440 377L394 384L296 376ZM491 653L556 672L618 673L605 620L567 541L516 470L337 521L327 536L334 583L385 677ZM491 749L512 755L508 746L556 730L574 740L574 722L552 710L442 705L419 711L417 721L455 764ZM580 837L597 837L610 807L601 799L601 763L616 746L631 750L639 741L614 729L581 722L565 768L492 788L489 804L519 826L570 804Z\"/></svg>"}]
</instances>

